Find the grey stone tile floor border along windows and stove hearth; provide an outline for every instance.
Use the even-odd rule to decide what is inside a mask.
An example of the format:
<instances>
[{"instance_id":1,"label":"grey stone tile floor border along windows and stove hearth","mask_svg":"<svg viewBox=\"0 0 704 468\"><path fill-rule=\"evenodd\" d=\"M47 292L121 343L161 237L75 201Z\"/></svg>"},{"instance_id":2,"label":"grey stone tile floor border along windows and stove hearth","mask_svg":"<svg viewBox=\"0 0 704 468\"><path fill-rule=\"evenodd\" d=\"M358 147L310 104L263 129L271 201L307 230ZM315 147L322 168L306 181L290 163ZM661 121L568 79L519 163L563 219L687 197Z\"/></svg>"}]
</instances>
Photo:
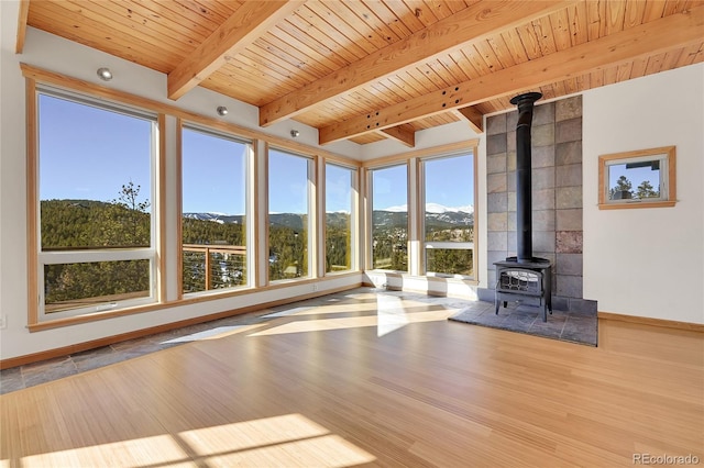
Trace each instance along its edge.
<instances>
[{"instance_id":1,"label":"grey stone tile floor border along windows and stove hearth","mask_svg":"<svg viewBox=\"0 0 704 468\"><path fill-rule=\"evenodd\" d=\"M372 294L370 294L372 293ZM267 323L277 317L287 315L311 315L316 308L324 308L331 303L344 303L354 309L354 304L369 307L370 297L376 298L372 309L376 313L375 325L380 333L391 333L395 327L403 325L404 309L413 307L418 310L419 304L427 307L429 311L447 310L448 317L454 316L462 321L479 321L485 326L492 326L514 332L538 334L543 337L558 338L570 342L583 342L596 344L596 316L574 315L568 312L553 311L547 323L542 323L538 316L537 308L510 305L508 309L494 314L494 304L488 302L470 301L457 298L429 297L419 293L387 291L373 288L359 288L336 294L329 294L316 299L300 301L253 312L201 323L165 333L130 339L76 353L69 356L57 357L25 366L14 367L0 371L0 394L40 383L61 379L87 370L120 363L125 359L143 356L185 343L207 339L209 336L233 333L240 327ZM425 304L425 305L424 305ZM324 313L323 310L320 313ZM468 325L472 326L472 325Z\"/></svg>"}]
</instances>

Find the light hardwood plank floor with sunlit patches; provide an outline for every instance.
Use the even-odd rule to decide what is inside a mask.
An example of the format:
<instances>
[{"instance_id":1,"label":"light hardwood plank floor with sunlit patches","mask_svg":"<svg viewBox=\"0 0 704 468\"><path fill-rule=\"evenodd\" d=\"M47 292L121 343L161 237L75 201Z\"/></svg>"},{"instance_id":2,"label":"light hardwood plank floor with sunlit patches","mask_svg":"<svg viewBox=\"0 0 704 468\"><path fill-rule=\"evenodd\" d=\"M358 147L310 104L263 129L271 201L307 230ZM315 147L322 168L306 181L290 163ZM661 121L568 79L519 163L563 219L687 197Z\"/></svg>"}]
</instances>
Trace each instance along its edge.
<instances>
[{"instance_id":1,"label":"light hardwood plank floor with sunlit patches","mask_svg":"<svg viewBox=\"0 0 704 468\"><path fill-rule=\"evenodd\" d=\"M704 464L702 333L609 320L594 348L415 294L304 305L0 397L0 467Z\"/></svg>"}]
</instances>

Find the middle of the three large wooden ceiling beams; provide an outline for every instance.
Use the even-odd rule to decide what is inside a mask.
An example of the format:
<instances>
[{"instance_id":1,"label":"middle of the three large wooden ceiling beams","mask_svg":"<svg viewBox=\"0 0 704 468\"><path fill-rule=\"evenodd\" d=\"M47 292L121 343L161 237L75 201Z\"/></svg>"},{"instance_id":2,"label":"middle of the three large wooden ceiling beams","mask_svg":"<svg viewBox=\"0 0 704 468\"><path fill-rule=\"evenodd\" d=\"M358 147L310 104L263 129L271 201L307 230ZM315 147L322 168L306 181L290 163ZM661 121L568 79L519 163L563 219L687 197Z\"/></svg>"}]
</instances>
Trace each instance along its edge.
<instances>
[{"instance_id":1,"label":"middle of the three large wooden ceiling beams","mask_svg":"<svg viewBox=\"0 0 704 468\"><path fill-rule=\"evenodd\" d=\"M314 105L353 92L370 82L398 74L430 57L449 54L498 31L529 23L575 1L492 0L474 3L455 14L387 47L381 48L319 80L260 108L260 125L296 116Z\"/></svg>"}]
</instances>

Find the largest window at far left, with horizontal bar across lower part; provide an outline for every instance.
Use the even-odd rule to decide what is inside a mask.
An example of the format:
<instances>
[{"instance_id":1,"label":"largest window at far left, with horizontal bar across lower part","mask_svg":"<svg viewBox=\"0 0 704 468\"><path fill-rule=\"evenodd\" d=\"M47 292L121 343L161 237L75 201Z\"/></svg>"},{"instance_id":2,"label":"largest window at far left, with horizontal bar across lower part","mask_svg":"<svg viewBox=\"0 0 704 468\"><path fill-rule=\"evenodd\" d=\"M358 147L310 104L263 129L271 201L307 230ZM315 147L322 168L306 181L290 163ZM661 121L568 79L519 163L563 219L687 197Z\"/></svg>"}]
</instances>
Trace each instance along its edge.
<instances>
[{"instance_id":1,"label":"largest window at far left, with horizontal bar across lower part","mask_svg":"<svg viewBox=\"0 0 704 468\"><path fill-rule=\"evenodd\" d=\"M40 89L40 321L155 302L156 115Z\"/></svg>"}]
</instances>

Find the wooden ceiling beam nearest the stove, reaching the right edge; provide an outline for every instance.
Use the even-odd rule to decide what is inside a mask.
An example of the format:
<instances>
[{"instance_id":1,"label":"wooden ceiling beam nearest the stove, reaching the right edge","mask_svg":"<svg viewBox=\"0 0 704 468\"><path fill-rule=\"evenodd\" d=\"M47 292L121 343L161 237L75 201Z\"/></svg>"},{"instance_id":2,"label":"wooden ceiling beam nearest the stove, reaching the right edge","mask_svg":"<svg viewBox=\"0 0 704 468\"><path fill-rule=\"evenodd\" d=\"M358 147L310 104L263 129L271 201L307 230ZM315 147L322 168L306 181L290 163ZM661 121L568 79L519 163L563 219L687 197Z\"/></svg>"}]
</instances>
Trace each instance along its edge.
<instances>
[{"instance_id":1,"label":"wooden ceiling beam nearest the stove, reaching the right edge","mask_svg":"<svg viewBox=\"0 0 704 468\"><path fill-rule=\"evenodd\" d=\"M603 36L446 89L320 127L319 143L351 138L507 94L578 78L668 49L701 44L704 7Z\"/></svg>"}]
</instances>

